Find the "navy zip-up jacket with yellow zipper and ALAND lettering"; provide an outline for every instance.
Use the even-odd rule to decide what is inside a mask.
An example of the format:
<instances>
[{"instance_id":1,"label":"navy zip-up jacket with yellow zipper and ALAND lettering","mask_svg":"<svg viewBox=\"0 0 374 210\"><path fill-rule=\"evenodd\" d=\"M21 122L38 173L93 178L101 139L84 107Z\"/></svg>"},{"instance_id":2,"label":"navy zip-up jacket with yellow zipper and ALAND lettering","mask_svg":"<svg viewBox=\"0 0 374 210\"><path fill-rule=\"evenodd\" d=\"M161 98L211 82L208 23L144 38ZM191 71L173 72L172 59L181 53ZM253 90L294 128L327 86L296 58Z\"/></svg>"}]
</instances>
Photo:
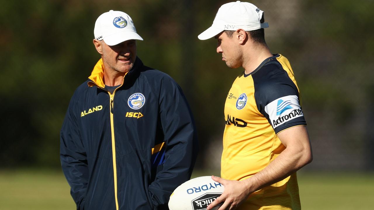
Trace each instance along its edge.
<instances>
[{"instance_id":1,"label":"navy zip-up jacket with yellow zipper and ALAND lettering","mask_svg":"<svg viewBox=\"0 0 374 210\"><path fill-rule=\"evenodd\" d=\"M77 209L168 209L197 155L186 98L169 75L139 58L113 94L102 79L100 59L61 129L61 165Z\"/></svg>"}]
</instances>

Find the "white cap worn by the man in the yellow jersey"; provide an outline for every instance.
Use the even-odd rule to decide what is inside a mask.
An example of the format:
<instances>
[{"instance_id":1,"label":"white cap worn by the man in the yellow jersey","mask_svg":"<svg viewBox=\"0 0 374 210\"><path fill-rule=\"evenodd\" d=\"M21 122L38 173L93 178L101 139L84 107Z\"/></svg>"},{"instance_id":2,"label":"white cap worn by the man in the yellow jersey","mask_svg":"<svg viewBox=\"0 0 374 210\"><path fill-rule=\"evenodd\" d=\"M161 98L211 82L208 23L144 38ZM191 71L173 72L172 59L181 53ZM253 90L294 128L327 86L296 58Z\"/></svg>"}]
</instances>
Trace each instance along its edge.
<instances>
[{"instance_id":1,"label":"white cap worn by the man in the yellow jersey","mask_svg":"<svg viewBox=\"0 0 374 210\"><path fill-rule=\"evenodd\" d=\"M212 38L224 30L236 31L239 28L253 31L269 27L268 23L261 23L263 11L248 2L230 2L223 4L215 15L213 24L197 36L200 40Z\"/></svg>"}]
</instances>

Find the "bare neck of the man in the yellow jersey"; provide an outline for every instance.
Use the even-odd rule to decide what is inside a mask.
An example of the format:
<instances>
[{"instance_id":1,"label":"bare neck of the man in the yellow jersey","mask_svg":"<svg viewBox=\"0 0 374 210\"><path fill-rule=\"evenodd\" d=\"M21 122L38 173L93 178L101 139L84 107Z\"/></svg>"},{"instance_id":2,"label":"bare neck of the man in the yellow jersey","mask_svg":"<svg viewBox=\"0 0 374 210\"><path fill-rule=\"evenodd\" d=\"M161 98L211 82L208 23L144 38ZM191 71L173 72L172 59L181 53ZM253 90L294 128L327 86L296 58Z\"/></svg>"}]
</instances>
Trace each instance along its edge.
<instances>
[{"instance_id":1,"label":"bare neck of the man in the yellow jersey","mask_svg":"<svg viewBox=\"0 0 374 210\"><path fill-rule=\"evenodd\" d=\"M245 74L253 72L265 59L273 56L267 46L251 47L245 54L246 57L243 62Z\"/></svg>"}]
</instances>

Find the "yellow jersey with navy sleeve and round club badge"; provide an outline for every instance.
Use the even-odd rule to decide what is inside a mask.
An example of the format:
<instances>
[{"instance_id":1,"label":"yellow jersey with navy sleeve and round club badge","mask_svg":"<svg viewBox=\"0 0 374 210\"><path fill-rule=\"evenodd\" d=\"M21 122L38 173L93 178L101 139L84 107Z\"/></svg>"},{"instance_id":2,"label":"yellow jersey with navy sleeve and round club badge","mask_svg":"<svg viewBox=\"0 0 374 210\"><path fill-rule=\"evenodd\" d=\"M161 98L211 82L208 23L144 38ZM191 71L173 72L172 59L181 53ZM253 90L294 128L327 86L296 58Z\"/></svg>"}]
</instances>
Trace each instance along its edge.
<instances>
[{"instance_id":1,"label":"yellow jersey with navy sleeve and round club badge","mask_svg":"<svg viewBox=\"0 0 374 210\"><path fill-rule=\"evenodd\" d=\"M274 55L251 74L240 74L227 95L224 115L221 177L248 179L285 149L277 133L306 125L287 58ZM252 193L238 209L301 209L296 173Z\"/></svg>"}]
</instances>

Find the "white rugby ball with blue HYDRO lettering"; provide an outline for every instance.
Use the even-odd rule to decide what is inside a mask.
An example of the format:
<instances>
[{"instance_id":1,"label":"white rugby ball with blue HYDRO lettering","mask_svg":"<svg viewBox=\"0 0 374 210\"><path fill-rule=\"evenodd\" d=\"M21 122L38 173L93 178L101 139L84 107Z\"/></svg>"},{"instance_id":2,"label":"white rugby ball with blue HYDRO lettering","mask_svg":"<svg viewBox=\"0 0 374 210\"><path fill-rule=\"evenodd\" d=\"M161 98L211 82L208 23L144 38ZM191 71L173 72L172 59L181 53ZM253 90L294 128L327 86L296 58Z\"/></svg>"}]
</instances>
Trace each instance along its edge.
<instances>
[{"instance_id":1,"label":"white rugby ball with blue HYDRO lettering","mask_svg":"<svg viewBox=\"0 0 374 210\"><path fill-rule=\"evenodd\" d=\"M204 210L223 193L224 186L211 176L200 176L184 182L170 196L169 210ZM212 210L217 210L223 202Z\"/></svg>"}]
</instances>

